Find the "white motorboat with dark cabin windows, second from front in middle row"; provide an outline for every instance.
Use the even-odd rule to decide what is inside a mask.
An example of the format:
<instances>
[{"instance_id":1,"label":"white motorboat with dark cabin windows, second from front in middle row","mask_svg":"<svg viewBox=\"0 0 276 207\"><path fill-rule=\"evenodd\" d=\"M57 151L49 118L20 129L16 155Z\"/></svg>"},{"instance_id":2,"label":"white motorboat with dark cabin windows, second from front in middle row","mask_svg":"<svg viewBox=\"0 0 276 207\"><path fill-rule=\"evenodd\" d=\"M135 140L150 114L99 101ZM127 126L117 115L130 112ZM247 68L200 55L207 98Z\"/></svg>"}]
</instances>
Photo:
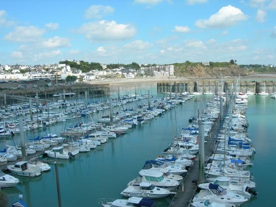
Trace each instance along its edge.
<instances>
[{"instance_id":1,"label":"white motorboat with dark cabin windows, second from front in middle row","mask_svg":"<svg viewBox=\"0 0 276 207\"><path fill-rule=\"evenodd\" d=\"M151 182L141 182L138 185L129 185L125 188L121 195L130 197L149 197L149 198L162 198L170 195L172 192L168 189L154 186Z\"/></svg>"}]
</instances>

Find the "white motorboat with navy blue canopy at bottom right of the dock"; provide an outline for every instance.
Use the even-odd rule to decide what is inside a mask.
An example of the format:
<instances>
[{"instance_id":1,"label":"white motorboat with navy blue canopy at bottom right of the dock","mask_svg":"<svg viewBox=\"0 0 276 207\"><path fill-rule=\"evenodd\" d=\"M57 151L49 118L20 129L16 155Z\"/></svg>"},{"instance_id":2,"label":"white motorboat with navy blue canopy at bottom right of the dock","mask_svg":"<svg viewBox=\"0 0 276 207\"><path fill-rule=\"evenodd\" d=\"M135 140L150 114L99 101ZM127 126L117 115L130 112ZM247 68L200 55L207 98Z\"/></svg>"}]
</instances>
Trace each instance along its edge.
<instances>
[{"instance_id":1,"label":"white motorboat with navy blue canopy at bottom right of the dock","mask_svg":"<svg viewBox=\"0 0 276 207\"><path fill-rule=\"evenodd\" d=\"M204 201L212 199L213 201L221 202L223 200L226 203L239 205L246 202L248 199L242 195L233 193L223 189L223 187L209 183L208 190L200 190L193 198L193 202Z\"/></svg>"}]
</instances>

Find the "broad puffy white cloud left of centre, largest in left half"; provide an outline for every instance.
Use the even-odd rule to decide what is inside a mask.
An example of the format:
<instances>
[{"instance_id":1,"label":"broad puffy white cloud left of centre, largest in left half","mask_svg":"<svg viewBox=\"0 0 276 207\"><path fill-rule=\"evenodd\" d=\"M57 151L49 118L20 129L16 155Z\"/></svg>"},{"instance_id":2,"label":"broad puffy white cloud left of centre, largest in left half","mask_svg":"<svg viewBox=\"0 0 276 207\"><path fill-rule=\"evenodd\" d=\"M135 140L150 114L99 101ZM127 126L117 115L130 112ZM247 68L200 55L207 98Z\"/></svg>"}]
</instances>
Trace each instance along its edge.
<instances>
[{"instance_id":1,"label":"broad puffy white cloud left of centre, largest in left half","mask_svg":"<svg viewBox=\"0 0 276 207\"><path fill-rule=\"evenodd\" d=\"M84 24L78 30L90 41L125 40L136 34L136 29L130 25L117 24L115 21L99 21Z\"/></svg>"}]
</instances>

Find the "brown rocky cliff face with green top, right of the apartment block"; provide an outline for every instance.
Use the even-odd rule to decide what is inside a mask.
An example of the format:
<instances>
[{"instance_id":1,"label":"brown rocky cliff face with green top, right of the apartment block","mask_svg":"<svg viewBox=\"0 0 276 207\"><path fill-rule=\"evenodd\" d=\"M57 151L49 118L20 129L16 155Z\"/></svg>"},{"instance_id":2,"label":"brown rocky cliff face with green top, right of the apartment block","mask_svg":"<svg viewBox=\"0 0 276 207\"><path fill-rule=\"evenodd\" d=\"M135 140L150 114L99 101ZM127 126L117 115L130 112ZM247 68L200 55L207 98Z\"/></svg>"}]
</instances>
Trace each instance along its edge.
<instances>
[{"instance_id":1,"label":"brown rocky cliff face with green top, right of the apartment block","mask_svg":"<svg viewBox=\"0 0 276 207\"><path fill-rule=\"evenodd\" d=\"M248 72L235 64L219 66L203 66L199 63L174 64L177 77L221 77L222 76L247 76Z\"/></svg>"}]
</instances>

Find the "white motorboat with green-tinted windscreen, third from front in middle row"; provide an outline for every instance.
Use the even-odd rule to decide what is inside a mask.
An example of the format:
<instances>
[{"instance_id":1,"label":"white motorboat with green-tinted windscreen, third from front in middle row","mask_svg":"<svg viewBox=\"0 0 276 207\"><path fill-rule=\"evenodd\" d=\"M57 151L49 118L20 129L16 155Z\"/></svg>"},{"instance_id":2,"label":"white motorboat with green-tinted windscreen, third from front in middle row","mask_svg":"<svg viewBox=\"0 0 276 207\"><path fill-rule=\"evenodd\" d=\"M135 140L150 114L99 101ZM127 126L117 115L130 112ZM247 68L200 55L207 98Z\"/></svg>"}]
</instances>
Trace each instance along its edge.
<instances>
[{"instance_id":1,"label":"white motorboat with green-tinted windscreen, third from front in middle row","mask_svg":"<svg viewBox=\"0 0 276 207\"><path fill-rule=\"evenodd\" d=\"M175 190L180 184L178 181L164 178L163 173L157 170L142 169L139 171L140 176L130 181L128 185L137 185L143 181L151 182L157 187L163 187L168 190Z\"/></svg>"}]
</instances>

